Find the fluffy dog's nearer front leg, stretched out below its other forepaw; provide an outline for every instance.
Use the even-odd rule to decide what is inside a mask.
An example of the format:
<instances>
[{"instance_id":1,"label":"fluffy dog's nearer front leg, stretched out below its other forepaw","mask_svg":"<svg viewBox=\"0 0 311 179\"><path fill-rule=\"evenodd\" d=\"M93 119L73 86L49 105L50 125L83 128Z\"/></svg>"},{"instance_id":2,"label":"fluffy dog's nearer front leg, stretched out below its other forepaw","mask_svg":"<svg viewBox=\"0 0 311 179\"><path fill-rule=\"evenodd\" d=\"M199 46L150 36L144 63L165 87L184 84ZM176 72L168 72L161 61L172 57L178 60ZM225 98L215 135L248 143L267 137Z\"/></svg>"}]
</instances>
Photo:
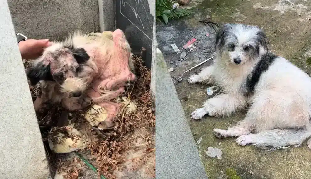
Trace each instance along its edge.
<instances>
[{"instance_id":1,"label":"fluffy dog's nearer front leg, stretched out below its other forepaw","mask_svg":"<svg viewBox=\"0 0 311 179\"><path fill-rule=\"evenodd\" d=\"M203 106L203 108L194 110L191 118L201 119L206 114L214 117L229 116L232 112L245 108L246 100L242 96L220 94L208 99Z\"/></svg>"}]
</instances>

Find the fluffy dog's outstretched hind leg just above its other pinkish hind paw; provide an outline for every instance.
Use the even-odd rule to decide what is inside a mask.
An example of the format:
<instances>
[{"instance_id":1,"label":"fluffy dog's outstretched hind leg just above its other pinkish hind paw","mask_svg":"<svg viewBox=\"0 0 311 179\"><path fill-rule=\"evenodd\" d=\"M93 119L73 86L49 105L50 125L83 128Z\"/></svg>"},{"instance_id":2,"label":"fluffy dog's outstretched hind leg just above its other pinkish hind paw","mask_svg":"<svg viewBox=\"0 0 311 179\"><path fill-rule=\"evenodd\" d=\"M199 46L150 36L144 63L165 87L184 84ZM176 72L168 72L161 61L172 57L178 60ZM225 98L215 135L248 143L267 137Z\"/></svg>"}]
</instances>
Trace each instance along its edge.
<instances>
[{"instance_id":1,"label":"fluffy dog's outstretched hind leg just above its other pinkish hind paw","mask_svg":"<svg viewBox=\"0 0 311 179\"><path fill-rule=\"evenodd\" d=\"M228 127L228 130L214 129L214 135L218 138L237 137L250 134L253 128L252 120L247 117L237 125Z\"/></svg>"}]
</instances>

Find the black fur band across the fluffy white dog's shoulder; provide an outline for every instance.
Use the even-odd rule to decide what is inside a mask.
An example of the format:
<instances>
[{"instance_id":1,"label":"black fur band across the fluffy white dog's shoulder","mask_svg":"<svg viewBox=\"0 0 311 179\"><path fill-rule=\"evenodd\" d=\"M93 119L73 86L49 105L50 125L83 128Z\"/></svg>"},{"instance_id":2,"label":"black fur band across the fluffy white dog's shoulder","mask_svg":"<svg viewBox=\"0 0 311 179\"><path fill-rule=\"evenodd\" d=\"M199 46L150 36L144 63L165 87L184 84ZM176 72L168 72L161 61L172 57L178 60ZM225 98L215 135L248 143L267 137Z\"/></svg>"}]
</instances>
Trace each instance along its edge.
<instances>
[{"instance_id":1,"label":"black fur band across the fluffy white dog's shoulder","mask_svg":"<svg viewBox=\"0 0 311 179\"><path fill-rule=\"evenodd\" d=\"M252 74L246 80L245 95L254 93L255 86L257 85L261 74L269 69L270 65L272 65L276 57L278 56L270 52L262 55L260 61L253 69Z\"/></svg>"}]
</instances>

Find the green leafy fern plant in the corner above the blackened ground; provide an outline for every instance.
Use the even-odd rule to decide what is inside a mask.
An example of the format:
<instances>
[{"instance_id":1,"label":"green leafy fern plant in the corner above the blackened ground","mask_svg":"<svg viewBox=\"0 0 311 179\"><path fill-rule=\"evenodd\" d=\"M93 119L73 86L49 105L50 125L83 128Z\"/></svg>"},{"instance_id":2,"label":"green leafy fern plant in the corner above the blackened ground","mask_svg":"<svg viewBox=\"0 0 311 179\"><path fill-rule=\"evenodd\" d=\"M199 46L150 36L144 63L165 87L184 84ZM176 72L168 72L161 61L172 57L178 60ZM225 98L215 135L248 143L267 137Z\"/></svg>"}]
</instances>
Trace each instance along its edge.
<instances>
[{"instance_id":1,"label":"green leafy fern plant in the corner above the blackened ground","mask_svg":"<svg viewBox=\"0 0 311 179\"><path fill-rule=\"evenodd\" d=\"M176 3L176 0L156 0L156 20L161 21L162 19L167 24L169 19L176 19L193 13L188 9L176 8Z\"/></svg>"}]
</instances>

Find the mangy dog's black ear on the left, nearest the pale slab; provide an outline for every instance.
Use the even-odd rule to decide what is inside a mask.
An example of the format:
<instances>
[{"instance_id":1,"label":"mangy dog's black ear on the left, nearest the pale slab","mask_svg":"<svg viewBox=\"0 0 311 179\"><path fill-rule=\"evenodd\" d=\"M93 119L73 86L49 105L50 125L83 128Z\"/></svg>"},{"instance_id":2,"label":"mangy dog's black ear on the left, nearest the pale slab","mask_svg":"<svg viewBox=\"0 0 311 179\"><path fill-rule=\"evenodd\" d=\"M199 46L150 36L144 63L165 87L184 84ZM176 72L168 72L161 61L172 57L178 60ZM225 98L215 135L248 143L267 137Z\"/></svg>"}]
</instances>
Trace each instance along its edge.
<instances>
[{"instance_id":1,"label":"mangy dog's black ear on the left, nearest the pale slab","mask_svg":"<svg viewBox=\"0 0 311 179\"><path fill-rule=\"evenodd\" d=\"M39 62L35 67L30 67L27 71L27 77L31 85L36 85L40 80L53 81L50 64L44 65Z\"/></svg>"}]
</instances>

